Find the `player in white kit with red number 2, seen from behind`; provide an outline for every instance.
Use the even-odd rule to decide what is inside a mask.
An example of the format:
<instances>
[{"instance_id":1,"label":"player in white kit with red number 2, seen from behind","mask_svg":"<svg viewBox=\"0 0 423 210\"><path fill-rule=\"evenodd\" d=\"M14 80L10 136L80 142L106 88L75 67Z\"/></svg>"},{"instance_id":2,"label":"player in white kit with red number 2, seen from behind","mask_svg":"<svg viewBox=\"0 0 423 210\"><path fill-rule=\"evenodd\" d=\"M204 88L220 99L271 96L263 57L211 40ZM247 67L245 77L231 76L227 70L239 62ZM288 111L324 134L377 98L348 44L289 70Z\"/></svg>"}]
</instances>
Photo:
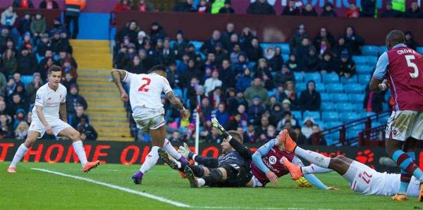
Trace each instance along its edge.
<instances>
[{"instance_id":1,"label":"player in white kit with red number 2, seen from behind","mask_svg":"<svg viewBox=\"0 0 423 210\"><path fill-rule=\"evenodd\" d=\"M180 100L173 94L173 90L166 79L166 67L164 65L156 65L152 67L149 74L133 74L125 70L111 70L111 76L114 83L121 91L121 100L130 101L133 110L133 118L137 123L137 127L149 133L152 136L152 150L145 158L139 171L133 176L133 182L140 185L144 174L157 163L159 157L164 162L171 164L188 164L185 157L181 156L178 151L173 148L169 140L166 139L166 125L164 123L164 108L161 104L161 93L166 94L166 98L180 111L182 118L188 117L188 112L180 103ZM129 98L121 81L130 86ZM163 148L163 149L162 149ZM168 154L177 162L169 161ZM171 166L173 169L185 168ZM179 171L184 176L183 171Z\"/></svg>"}]
</instances>

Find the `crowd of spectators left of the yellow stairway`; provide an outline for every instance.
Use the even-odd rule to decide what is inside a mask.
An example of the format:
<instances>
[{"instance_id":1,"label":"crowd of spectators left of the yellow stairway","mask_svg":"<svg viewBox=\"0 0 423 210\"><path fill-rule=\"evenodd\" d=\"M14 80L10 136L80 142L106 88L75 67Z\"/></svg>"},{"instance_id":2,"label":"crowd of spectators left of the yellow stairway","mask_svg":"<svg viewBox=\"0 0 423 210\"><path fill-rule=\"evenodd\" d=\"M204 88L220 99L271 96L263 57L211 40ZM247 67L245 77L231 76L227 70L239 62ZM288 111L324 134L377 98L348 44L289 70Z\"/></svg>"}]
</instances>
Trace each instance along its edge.
<instances>
[{"instance_id":1,"label":"crowd of spectators left of the yellow stairway","mask_svg":"<svg viewBox=\"0 0 423 210\"><path fill-rule=\"evenodd\" d=\"M1 12L0 138L25 139L37 90L46 84L49 67L59 65L61 84L68 89L68 123L82 133L83 140L95 140L97 132L84 113L87 102L78 93L78 64L72 56L69 31L60 18L48 26L39 11L25 11L21 17L15 11L33 7L32 1L15 0ZM42 1L39 7L58 8L56 1L50 0Z\"/></svg>"}]
</instances>

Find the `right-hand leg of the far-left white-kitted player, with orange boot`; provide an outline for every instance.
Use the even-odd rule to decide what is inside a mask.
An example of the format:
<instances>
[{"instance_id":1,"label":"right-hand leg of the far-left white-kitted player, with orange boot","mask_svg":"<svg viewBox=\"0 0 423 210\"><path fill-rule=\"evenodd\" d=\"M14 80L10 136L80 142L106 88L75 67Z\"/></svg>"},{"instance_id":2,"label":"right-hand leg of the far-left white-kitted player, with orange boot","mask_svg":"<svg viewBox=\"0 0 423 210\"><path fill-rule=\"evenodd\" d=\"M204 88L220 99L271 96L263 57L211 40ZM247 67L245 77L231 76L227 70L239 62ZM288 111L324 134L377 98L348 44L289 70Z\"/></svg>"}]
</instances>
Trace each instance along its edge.
<instances>
[{"instance_id":1,"label":"right-hand leg of the far-left white-kitted player, with orange boot","mask_svg":"<svg viewBox=\"0 0 423 210\"><path fill-rule=\"evenodd\" d=\"M57 133L57 136L65 136L66 138L70 138L72 140L73 150L75 150L76 155L80 159L83 172L87 173L91 169L95 169L100 164L99 160L95 162L87 161L87 154L85 153L85 148L82 144L80 133L73 129L73 127L62 121L55 122L53 125L51 125L51 127L53 128L53 131ZM63 127L66 128L62 129Z\"/></svg>"}]
</instances>

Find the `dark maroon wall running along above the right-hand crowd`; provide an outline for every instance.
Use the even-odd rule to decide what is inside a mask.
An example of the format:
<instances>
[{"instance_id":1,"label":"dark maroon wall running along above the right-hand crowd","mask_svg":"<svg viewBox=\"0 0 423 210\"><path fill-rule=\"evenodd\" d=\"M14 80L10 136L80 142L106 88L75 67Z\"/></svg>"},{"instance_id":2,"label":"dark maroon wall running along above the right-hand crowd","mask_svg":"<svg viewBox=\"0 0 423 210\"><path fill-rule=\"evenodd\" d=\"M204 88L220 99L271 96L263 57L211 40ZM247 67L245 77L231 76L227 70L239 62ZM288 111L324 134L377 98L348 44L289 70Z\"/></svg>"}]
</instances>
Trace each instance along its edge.
<instances>
[{"instance_id":1,"label":"dark maroon wall running along above the right-hand crowd","mask_svg":"<svg viewBox=\"0 0 423 210\"><path fill-rule=\"evenodd\" d=\"M314 37L321 27L338 37L345 34L349 26L355 27L358 35L365 38L366 44L385 45L386 34L392 29L411 30L414 37L423 36L423 19L405 18L327 18L280 15L209 15L196 13L140 13L116 12L116 27L121 29L130 20L138 20L140 28L150 31L152 22L159 22L169 37L176 37L176 32L182 29L184 37L190 40L209 39L214 29L223 31L228 22L235 24L235 30L240 34L243 27L250 27L257 32L262 42L286 42L295 34L298 26L305 25L307 33ZM374 27L377 26L377 27Z\"/></svg>"}]
</instances>

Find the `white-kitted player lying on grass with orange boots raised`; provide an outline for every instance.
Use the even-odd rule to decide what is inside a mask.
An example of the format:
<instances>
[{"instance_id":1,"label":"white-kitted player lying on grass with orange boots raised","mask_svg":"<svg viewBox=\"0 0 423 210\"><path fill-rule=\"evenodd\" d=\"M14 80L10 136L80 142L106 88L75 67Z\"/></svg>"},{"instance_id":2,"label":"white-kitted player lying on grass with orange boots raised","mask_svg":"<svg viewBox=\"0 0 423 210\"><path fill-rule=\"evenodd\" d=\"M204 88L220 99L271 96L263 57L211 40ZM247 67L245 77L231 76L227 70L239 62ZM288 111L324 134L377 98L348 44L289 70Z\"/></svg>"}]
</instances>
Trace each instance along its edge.
<instances>
[{"instance_id":1,"label":"white-kitted player lying on grass with orange boots raised","mask_svg":"<svg viewBox=\"0 0 423 210\"><path fill-rule=\"evenodd\" d=\"M352 190L364 195L396 195L400 189L400 174L379 173L369 166L344 156L330 158L317 152L304 150L287 134L288 132L279 136L283 150L294 152L295 155L312 163L310 166L301 167L289 162L286 157L282 157L283 164L288 168L294 180L300 178L303 174L336 171L350 183ZM419 196L419 185L417 178L412 177L407 195Z\"/></svg>"}]
</instances>

